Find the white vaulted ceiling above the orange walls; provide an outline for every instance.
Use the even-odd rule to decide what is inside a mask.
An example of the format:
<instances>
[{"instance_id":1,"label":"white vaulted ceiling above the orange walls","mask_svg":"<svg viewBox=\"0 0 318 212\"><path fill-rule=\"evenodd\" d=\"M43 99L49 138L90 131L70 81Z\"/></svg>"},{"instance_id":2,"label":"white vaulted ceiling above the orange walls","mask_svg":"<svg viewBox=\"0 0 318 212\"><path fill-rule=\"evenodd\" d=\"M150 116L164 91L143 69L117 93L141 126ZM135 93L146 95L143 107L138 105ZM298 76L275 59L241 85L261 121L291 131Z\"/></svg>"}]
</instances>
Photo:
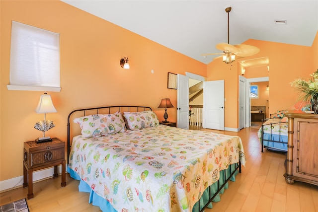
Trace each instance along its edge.
<instances>
[{"instance_id":1,"label":"white vaulted ceiling above the orange walls","mask_svg":"<svg viewBox=\"0 0 318 212\"><path fill-rule=\"evenodd\" d=\"M217 43L248 39L311 46L318 0L62 0L202 63ZM276 21L275 21L276 20ZM277 20L286 24L277 24Z\"/></svg>"}]
</instances>

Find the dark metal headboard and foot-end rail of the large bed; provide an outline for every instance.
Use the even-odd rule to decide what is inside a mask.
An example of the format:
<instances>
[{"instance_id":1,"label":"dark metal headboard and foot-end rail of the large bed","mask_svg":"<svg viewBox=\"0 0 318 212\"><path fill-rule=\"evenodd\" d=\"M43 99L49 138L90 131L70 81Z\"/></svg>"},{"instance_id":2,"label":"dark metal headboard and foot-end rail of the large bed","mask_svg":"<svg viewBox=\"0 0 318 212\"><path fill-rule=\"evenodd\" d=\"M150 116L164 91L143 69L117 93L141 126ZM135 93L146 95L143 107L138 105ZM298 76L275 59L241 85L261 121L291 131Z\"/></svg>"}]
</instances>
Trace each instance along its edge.
<instances>
[{"instance_id":1,"label":"dark metal headboard and foot-end rail of the large bed","mask_svg":"<svg viewBox=\"0 0 318 212\"><path fill-rule=\"evenodd\" d=\"M123 109L125 108L125 109ZM118 112L139 112L139 111L146 111L146 110L152 110L150 107L147 106L104 106L104 107L95 107L95 108L83 108L83 109L78 109L78 110L74 110L72 111L69 116L68 116L68 124L67 124L67 149L68 149L68 164L69 164L69 158L70 158L70 151L71 151L71 146L72 146L72 142L71 142L71 123L70 123L70 118L71 116L76 113L76 112L80 112L80 116L86 116L86 112L87 111L93 111L95 110L96 113L94 114L99 114L100 110L106 110L108 109L108 113L111 113L111 111L118 111ZM114 110L117 109L117 110ZM209 200L206 204L204 204L204 206L202 207L202 209L200 210L200 200L197 202L197 206L198 206L198 212L203 212L205 209L207 209L208 205L213 201L213 199L220 193L220 191L224 188L224 186L229 182L229 180L231 179L231 177L236 173L236 171L239 170L239 173L241 173L241 163L240 161L238 163L235 164L235 168L232 170L232 167L230 167L230 175L227 176L227 172L226 170L221 170L220 171L220 175L221 172L223 172L223 180L224 183L221 185L220 184L220 179L217 181L218 183L218 190L215 194L212 194L211 191L211 186L209 186L205 191L208 191L209 193ZM213 184L214 185L214 184ZM213 195L213 196L212 196ZM212 197L211 197L212 196ZM194 211L194 209L193 209Z\"/></svg>"}]
</instances>

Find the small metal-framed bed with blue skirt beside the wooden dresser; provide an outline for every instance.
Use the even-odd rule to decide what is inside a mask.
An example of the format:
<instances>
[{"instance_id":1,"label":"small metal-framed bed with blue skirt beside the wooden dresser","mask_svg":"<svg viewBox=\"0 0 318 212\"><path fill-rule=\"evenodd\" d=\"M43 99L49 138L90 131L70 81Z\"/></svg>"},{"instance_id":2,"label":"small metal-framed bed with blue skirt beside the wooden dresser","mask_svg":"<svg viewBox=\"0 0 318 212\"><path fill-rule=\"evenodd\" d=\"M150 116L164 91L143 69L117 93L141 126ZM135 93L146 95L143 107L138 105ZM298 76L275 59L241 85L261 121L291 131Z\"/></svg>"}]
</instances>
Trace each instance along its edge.
<instances>
[{"instance_id":1,"label":"small metal-framed bed with blue skirt beside the wooden dresser","mask_svg":"<svg viewBox=\"0 0 318 212\"><path fill-rule=\"evenodd\" d=\"M262 120L262 125L257 131L262 152L264 148L287 152L288 119L285 113L286 111L277 111L270 114L271 118Z\"/></svg>"}]
</instances>

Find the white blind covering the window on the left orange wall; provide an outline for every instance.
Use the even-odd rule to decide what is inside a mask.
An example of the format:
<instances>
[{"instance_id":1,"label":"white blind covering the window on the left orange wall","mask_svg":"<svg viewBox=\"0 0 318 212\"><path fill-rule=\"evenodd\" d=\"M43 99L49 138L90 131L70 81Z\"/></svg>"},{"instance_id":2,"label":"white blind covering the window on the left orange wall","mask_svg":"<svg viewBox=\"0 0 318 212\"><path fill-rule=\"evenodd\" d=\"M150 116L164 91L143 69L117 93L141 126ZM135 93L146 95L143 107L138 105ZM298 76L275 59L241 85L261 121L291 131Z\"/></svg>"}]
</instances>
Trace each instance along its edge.
<instances>
[{"instance_id":1,"label":"white blind covering the window on the left orange wall","mask_svg":"<svg viewBox=\"0 0 318 212\"><path fill-rule=\"evenodd\" d=\"M60 91L60 34L12 21L7 87Z\"/></svg>"}]
</instances>

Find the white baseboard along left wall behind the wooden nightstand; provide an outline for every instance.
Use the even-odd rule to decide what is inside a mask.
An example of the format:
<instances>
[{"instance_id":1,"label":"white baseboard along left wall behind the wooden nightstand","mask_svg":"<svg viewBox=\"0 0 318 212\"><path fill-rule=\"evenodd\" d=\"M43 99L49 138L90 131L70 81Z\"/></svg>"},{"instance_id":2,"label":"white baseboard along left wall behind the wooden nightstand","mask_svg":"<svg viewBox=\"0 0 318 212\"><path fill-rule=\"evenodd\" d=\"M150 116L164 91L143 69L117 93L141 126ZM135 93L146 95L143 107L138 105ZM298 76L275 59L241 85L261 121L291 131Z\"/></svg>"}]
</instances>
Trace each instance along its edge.
<instances>
[{"instance_id":1,"label":"white baseboard along left wall behind the wooden nightstand","mask_svg":"<svg viewBox=\"0 0 318 212\"><path fill-rule=\"evenodd\" d=\"M52 178L54 173L54 167L42 169L39 171L33 172L33 182L38 182L42 180L46 180L48 178ZM58 166L58 174L62 173L62 166ZM14 177L11 179L0 181L0 192L5 192L14 188L19 188L23 184L23 175L19 177Z\"/></svg>"}]
</instances>

